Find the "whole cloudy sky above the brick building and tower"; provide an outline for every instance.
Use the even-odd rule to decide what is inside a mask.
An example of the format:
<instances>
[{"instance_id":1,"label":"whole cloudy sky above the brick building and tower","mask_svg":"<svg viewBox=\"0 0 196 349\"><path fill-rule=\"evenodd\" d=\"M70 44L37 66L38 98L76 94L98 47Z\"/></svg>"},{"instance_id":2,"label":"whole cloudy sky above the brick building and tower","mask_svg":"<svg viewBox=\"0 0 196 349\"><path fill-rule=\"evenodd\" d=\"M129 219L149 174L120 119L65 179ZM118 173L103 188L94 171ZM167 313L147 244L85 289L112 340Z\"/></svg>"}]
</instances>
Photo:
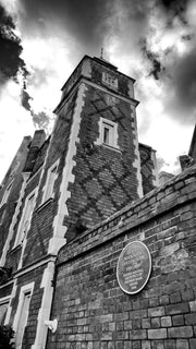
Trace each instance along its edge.
<instances>
[{"instance_id":1,"label":"whole cloudy sky above the brick building and tower","mask_svg":"<svg viewBox=\"0 0 196 349\"><path fill-rule=\"evenodd\" d=\"M177 171L196 122L196 0L0 0L0 180L24 135L51 130L84 55L136 79L139 141Z\"/></svg>"}]
</instances>

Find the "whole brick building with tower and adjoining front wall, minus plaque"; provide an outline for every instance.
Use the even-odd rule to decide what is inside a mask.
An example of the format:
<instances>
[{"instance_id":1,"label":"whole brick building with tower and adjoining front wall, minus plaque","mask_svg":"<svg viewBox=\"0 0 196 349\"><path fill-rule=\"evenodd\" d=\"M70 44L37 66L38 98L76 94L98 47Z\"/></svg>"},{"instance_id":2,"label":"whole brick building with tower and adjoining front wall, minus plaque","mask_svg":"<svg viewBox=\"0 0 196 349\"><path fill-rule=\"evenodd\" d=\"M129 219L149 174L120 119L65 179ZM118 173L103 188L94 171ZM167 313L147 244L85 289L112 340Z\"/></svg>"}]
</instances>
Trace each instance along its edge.
<instances>
[{"instance_id":1,"label":"whole brick building with tower and adjoining front wall, minus plaque","mask_svg":"<svg viewBox=\"0 0 196 349\"><path fill-rule=\"evenodd\" d=\"M16 349L194 348L195 168L155 189L137 104L133 79L85 56L51 136L36 131L16 153L0 193L0 320ZM152 272L130 297L115 266L133 239L149 248Z\"/></svg>"}]
</instances>

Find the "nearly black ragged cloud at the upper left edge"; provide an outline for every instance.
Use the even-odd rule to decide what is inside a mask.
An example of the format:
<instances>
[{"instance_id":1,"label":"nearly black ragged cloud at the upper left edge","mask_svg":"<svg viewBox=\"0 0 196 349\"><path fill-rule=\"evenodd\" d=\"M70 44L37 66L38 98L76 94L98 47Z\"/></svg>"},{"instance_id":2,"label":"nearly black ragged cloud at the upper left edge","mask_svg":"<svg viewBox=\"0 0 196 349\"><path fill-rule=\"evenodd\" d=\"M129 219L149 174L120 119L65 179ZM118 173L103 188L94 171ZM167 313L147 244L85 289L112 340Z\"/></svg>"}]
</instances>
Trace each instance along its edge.
<instances>
[{"instance_id":1,"label":"nearly black ragged cloud at the upper left edge","mask_svg":"<svg viewBox=\"0 0 196 349\"><path fill-rule=\"evenodd\" d=\"M17 80L17 73L21 71L24 76L27 75L25 62L21 58L21 39L14 34L15 24L13 19L5 12L0 4L0 83L9 79Z\"/></svg>"}]
</instances>

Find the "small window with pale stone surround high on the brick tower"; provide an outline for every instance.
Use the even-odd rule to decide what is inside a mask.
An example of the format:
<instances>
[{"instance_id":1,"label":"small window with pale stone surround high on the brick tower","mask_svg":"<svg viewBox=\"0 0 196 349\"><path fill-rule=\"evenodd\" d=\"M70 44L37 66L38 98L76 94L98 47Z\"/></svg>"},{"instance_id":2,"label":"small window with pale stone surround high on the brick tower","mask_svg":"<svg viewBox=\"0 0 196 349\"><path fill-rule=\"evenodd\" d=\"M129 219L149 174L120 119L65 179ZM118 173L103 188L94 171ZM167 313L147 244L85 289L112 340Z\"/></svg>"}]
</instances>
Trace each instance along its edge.
<instances>
[{"instance_id":1,"label":"small window with pale stone surround high on the brick tower","mask_svg":"<svg viewBox=\"0 0 196 349\"><path fill-rule=\"evenodd\" d=\"M103 144L114 148L118 146L118 124L113 121L100 118L99 121L99 139L96 144Z\"/></svg>"}]
</instances>

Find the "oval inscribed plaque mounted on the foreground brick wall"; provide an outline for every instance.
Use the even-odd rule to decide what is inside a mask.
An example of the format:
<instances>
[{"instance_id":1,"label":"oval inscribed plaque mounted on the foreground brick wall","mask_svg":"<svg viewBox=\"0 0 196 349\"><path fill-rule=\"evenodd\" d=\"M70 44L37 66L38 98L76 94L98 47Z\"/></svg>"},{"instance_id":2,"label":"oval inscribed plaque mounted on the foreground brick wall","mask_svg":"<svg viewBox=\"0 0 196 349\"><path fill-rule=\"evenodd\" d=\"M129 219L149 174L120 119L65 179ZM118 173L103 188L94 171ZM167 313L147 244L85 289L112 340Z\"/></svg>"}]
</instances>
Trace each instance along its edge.
<instances>
[{"instance_id":1,"label":"oval inscribed plaque mounted on the foreground brick wall","mask_svg":"<svg viewBox=\"0 0 196 349\"><path fill-rule=\"evenodd\" d=\"M121 252L117 278L122 290L128 294L139 292L149 279L151 256L148 248L140 241L130 242Z\"/></svg>"}]
</instances>

